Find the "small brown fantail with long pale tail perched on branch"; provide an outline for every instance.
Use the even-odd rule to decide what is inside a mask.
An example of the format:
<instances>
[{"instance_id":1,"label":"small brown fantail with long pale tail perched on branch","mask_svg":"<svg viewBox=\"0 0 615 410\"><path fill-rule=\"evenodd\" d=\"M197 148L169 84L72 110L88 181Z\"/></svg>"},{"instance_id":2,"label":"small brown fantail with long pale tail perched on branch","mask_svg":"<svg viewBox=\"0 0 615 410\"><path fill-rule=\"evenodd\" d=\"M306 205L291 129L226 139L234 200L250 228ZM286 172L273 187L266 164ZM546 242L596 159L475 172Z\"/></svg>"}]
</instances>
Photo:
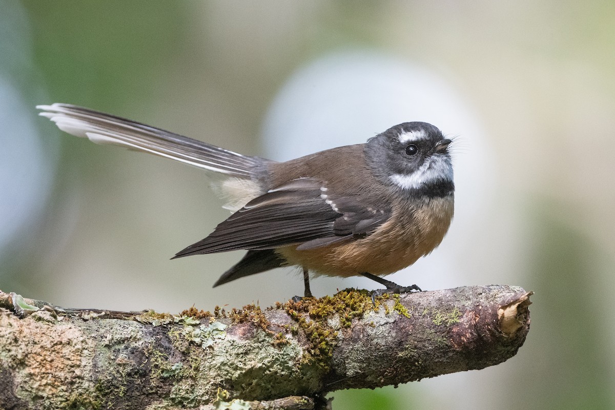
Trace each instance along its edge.
<instances>
[{"instance_id":1,"label":"small brown fantail with long pale tail perched on branch","mask_svg":"<svg viewBox=\"0 0 615 410\"><path fill-rule=\"evenodd\" d=\"M247 250L215 286L281 266L309 275L363 276L378 294L420 291L384 276L442 242L454 214L451 139L426 122L403 122L366 143L277 162L72 104L39 105L66 133L178 160L208 171L232 211L172 259Z\"/></svg>"}]
</instances>

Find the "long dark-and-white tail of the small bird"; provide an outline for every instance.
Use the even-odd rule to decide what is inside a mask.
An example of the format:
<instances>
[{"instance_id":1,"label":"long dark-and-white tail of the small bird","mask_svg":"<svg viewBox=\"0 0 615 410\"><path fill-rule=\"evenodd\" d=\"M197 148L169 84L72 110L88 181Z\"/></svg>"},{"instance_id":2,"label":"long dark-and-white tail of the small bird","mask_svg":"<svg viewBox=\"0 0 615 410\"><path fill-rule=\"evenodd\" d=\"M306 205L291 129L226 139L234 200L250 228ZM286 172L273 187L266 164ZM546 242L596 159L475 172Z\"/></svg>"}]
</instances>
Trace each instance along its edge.
<instances>
[{"instance_id":1,"label":"long dark-and-white tail of the small bird","mask_svg":"<svg viewBox=\"0 0 615 410\"><path fill-rule=\"evenodd\" d=\"M97 144L125 146L172 158L206 170L251 178L263 159L193 140L160 128L71 104L39 105L47 117L64 132L87 137Z\"/></svg>"}]
</instances>

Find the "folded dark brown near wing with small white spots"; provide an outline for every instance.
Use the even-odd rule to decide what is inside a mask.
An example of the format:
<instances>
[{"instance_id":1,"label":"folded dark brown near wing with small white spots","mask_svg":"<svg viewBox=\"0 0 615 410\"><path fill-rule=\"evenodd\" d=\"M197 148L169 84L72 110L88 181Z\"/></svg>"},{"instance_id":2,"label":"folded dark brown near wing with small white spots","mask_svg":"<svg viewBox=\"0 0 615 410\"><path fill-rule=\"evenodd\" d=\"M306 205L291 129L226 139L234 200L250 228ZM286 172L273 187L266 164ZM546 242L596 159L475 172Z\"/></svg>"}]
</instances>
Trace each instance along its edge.
<instances>
[{"instance_id":1,"label":"folded dark brown near wing with small white spots","mask_svg":"<svg viewBox=\"0 0 615 410\"><path fill-rule=\"evenodd\" d=\"M302 250L368 234L389 218L357 197L336 198L326 183L299 178L256 197L207 238L175 258L231 250L299 245Z\"/></svg>"}]
</instances>

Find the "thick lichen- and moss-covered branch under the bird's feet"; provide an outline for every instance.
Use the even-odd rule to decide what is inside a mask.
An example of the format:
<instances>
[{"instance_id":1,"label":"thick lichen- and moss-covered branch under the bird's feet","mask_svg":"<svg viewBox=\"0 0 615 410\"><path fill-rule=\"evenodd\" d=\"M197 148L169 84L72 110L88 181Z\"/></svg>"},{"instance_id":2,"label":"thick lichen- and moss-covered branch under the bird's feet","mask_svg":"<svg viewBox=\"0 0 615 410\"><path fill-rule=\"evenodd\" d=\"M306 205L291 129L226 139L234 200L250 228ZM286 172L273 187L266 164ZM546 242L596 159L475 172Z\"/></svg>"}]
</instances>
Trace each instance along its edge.
<instances>
[{"instance_id":1,"label":"thick lichen- and moss-covered branch under the bird's feet","mask_svg":"<svg viewBox=\"0 0 615 410\"><path fill-rule=\"evenodd\" d=\"M333 390L502 363L525 341L530 295L471 286L373 304L348 290L170 315L0 291L0 408L320 408Z\"/></svg>"}]
</instances>

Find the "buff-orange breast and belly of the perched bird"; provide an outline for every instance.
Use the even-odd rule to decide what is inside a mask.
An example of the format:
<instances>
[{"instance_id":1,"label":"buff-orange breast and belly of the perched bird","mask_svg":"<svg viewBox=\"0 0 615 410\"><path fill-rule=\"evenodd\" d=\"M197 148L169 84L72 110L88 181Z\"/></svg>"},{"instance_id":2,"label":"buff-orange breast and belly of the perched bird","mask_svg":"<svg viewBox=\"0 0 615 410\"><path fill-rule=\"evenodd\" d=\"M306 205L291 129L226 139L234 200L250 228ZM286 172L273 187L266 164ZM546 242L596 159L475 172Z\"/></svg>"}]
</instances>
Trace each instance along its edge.
<instances>
[{"instance_id":1,"label":"buff-orange breast and belly of the perched bird","mask_svg":"<svg viewBox=\"0 0 615 410\"><path fill-rule=\"evenodd\" d=\"M447 195L395 205L391 218L360 239L305 251L288 246L277 252L288 264L320 275L392 274L442 242L453 218L454 200Z\"/></svg>"}]
</instances>

